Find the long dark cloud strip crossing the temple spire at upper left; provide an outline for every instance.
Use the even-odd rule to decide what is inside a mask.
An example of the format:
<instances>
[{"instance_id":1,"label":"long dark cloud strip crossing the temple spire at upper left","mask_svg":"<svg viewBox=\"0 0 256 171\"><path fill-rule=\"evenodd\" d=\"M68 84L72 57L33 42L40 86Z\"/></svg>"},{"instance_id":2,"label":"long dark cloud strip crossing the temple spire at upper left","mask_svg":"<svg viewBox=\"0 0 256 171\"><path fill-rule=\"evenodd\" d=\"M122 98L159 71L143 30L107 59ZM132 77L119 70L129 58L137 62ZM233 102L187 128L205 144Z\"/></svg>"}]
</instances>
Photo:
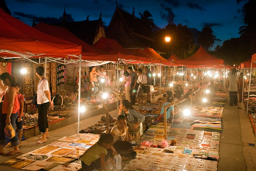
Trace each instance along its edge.
<instances>
[{"instance_id":1,"label":"long dark cloud strip crossing the temple spire at upper left","mask_svg":"<svg viewBox=\"0 0 256 171\"><path fill-rule=\"evenodd\" d=\"M36 23L39 22L46 22L46 23L61 23L63 21L63 17L55 18L55 17L36 17L35 15L31 14L24 14L21 12L14 12L14 14L17 16L16 18L25 18L25 19L33 19ZM71 14L67 14L67 22L73 22L74 19Z\"/></svg>"}]
</instances>

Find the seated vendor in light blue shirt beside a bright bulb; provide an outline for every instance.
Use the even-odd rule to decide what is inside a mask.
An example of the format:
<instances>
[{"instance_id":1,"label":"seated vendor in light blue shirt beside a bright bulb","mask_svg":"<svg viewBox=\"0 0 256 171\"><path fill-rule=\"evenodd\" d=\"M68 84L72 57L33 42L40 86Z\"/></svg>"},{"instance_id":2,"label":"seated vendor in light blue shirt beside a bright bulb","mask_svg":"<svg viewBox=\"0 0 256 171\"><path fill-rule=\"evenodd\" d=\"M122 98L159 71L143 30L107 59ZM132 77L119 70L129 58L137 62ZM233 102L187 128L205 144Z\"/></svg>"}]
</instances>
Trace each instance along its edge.
<instances>
[{"instance_id":1,"label":"seated vendor in light blue shirt beside a bright bulb","mask_svg":"<svg viewBox=\"0 0 256 171\"><path fill-rule=\"evenodd\" d=\"M164 105L162 106L160 114L164 113L164 106L169 105L172 102L173 102L173 98L171 96L168 96L167 97L167 102L164 103ZM179 123L182 122L181 116L182 116L181 115L181 109L178 109L177 111L174 112L173 105L167 108L167 111L166 111L167 121L170 121L174 124L179 124Z\"/></svg>"}]
</instances>

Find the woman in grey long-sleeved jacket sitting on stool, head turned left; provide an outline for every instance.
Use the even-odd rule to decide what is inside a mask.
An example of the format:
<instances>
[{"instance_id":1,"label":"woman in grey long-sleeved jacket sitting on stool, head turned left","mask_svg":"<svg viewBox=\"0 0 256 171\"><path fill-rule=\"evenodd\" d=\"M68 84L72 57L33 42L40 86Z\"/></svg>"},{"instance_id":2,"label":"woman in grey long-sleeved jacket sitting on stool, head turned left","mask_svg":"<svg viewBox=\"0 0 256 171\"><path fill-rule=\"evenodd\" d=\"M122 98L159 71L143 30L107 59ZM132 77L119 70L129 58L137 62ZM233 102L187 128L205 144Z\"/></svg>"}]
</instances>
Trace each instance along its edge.
<instances>
[{"instance_id":1,"label":"woman in grey long-sleeved jacket sitting on stool, head turned left","mask_svg":"<svg viewBox=\"0 0 256 171\"><path fill-rule=\"evenodd\" d=\"M129 127L129 133L140 131L142 135L142 123L145 121L145 116L134 110L128 100L122 100L118 106L118 115L125 115L127 118L127 126Z\"/></svg>"}]
</instances>

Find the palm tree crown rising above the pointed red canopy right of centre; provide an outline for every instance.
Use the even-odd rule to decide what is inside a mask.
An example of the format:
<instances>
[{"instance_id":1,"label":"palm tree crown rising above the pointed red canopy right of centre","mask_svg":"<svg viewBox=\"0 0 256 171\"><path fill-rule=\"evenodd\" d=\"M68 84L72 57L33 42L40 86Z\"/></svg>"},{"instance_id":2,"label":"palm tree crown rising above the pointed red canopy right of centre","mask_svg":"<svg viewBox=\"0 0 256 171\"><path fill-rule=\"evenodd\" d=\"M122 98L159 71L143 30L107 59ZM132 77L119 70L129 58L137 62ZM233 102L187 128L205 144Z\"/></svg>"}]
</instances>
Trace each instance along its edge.
<instances>
[{"instance_id":1,"label":"palm tree crown rising above the pointed red canopy right of centre","mask_svg":"<svg viewBox=\"0 0 256 171\"><path fill-rule=\"evenodd\" d=\"M203 27L202 31L198 33L198 44L204 47L205 50L209 50L213 47L216 36L213 35L211 27Z\"/></svg>"}]
</instances>

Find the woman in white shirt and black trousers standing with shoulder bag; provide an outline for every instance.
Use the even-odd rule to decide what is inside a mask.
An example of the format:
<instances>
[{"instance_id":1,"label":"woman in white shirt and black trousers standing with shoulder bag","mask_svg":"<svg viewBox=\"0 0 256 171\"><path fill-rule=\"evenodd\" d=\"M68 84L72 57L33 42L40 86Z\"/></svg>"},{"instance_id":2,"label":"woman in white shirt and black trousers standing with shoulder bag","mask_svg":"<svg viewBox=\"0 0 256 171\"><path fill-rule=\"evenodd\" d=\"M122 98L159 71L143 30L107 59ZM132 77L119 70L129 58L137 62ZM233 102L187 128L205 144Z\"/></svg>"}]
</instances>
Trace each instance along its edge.
<instances>
[{"instance_id":1,"label":"woman in white shirt and black trousers standing with shoulder bag","mask_svg":"<svg viewBox=\"0 0 256 171\"><path fill-rule=\"evenodd\" d=\"M43 133L39 141L36 144L42 144L49 138L48 134L48 119L47 110L50 105L53 105L51 100L51 94L49 91L49 84L47 79L44 77L44 68L39 66L36 68L36 76L39 77L40 81L37 85L37 106L38 106L38 127L39 131Z\"/></svg>"}]
</instances>

